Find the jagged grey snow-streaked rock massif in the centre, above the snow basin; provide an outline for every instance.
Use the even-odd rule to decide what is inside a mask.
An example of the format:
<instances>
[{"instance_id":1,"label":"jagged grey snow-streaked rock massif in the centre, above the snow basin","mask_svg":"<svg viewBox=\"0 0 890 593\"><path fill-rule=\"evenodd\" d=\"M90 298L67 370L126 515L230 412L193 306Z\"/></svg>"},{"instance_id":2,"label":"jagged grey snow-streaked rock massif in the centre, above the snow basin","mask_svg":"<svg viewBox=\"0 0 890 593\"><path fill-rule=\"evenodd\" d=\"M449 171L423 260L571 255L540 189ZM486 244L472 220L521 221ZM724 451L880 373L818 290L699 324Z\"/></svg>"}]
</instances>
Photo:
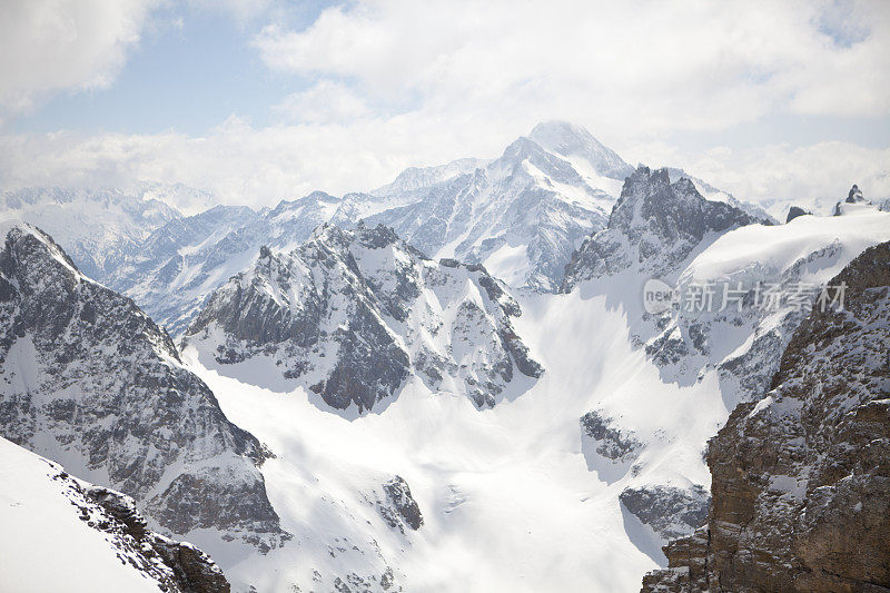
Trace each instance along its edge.
<instances>
[{"instance_id":1,"label":"jagged grey snow-streaked rock massif in the centre, above the snow basin","mask_svg":"<svg viewBox=\"0 0 890 593\"><path fill-rule=\"evenodd\" d=\"M214 293L186 344L219 365L265 359L338 409L372 409L412 373L481 407L514 370L543 373L511 324L521 313L481 266L436 264L382 225L328 226Z\"/></svg>"}]
</instances>

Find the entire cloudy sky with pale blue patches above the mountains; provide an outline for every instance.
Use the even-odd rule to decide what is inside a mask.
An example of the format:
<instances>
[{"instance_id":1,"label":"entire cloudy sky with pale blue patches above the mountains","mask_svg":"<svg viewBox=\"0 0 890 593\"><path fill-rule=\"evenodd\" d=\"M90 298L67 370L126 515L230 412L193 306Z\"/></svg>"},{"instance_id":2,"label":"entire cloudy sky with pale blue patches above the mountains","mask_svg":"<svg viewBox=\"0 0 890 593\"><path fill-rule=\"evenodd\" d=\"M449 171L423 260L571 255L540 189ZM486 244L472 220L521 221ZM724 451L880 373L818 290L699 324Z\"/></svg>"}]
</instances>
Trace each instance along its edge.
<instances>
[{"instance_id":1,"label":"entire cloudy sky with pale blue patches above the mountains","mask_svg":"<svg viewBox=\"0 0 890 593\"><path fill-rule=\"evenodd\" d=\"M547 119L745 199L890 196L890 2L3 0L3 187L270 205Z\"/></svg>"}]
</instances>

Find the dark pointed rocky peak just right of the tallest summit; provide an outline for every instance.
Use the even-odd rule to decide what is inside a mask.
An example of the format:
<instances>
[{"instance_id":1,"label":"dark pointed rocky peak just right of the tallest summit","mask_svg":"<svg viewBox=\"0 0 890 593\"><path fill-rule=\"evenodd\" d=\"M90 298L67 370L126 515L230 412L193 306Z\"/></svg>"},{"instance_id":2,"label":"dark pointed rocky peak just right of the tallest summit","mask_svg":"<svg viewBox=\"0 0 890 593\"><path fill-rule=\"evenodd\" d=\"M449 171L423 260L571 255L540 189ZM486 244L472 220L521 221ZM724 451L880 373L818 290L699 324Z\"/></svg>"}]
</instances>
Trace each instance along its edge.
<instances>
[{"instance_id":1,"label":"dark pointed rocky peak just right of the tallest summit","mask_svg":"<svg viewBox=\"0 0 890 593\"><path fill-rule=\"evenodd\" d=\"M641 166L624 181L607 227L572 256L562 290L631 267L642 275L665 276L706 234L754 221L729 204L705 200L689 179L671 184L666 169L652 171Z\"/></svg>"}]
</instances>

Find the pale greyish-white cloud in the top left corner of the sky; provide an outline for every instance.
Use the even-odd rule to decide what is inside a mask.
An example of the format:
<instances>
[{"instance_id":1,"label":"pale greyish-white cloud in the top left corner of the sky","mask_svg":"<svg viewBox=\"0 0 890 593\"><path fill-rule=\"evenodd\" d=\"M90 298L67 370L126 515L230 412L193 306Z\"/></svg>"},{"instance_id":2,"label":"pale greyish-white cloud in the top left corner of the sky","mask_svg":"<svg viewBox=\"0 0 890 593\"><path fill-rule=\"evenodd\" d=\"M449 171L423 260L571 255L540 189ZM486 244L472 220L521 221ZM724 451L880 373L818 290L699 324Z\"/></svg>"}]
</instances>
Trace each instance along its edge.
<instances>
[{"instance_id":1,"label":"pale greyish-white cloud in the top left corner of the sky","mask_svg":"<svg viewBox=\"0 0 890 593\"><path fill-rule=\"evenodd\" d=\"M0 120L52 91L108 86L158 0L9 0L0 19Z\"/></svg>"}]
</instances>

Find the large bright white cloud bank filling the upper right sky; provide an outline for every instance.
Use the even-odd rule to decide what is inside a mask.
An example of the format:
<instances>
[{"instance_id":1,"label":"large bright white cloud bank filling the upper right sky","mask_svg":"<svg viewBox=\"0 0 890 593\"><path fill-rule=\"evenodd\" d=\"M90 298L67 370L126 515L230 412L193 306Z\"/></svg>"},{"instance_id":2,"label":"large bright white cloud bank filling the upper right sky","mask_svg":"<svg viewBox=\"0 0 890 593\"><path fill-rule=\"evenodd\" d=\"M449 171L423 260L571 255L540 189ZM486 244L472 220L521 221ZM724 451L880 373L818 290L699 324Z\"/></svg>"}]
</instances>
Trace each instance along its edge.
<instances>
[{"instance_id":1,"label":"large bright white cloud bank filling the upper right sky","mask_svg":"<svg viewBox=\"0 0 890 593\"><path fill-rule=\"evenodd\" d=\"M346 77L395 105L409 96L428 117L555 115L652 136L777 111L890 115L880 1L366 0L301 31L270 24L255 45L277 71Z\"/></svg>"}]
</instances>

